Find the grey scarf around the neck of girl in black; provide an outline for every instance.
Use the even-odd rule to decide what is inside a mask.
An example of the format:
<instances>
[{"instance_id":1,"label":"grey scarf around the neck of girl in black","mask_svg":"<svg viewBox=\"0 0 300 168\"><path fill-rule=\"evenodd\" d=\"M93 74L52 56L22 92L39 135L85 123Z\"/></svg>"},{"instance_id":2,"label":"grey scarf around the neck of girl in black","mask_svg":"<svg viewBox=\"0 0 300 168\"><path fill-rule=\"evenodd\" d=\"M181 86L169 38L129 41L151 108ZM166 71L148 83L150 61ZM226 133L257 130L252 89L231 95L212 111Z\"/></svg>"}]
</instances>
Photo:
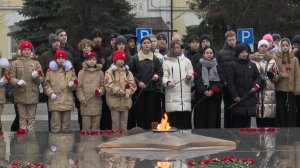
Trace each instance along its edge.
<instances>
[{"instance_id":1,"label":"grey scarf around the neck of girl in black","mask_svg":"<svg viewBox=\"0 0 300 168\"><path fill-rule=\"evenodd\" d=\"M206 61L203 58L200 59L200 64L202 65L202 80L205 86L209 86L209 81L220 81L218 70L217 70L217 60L213 58L211 61Z\"/></svg>"}]
</instances>

